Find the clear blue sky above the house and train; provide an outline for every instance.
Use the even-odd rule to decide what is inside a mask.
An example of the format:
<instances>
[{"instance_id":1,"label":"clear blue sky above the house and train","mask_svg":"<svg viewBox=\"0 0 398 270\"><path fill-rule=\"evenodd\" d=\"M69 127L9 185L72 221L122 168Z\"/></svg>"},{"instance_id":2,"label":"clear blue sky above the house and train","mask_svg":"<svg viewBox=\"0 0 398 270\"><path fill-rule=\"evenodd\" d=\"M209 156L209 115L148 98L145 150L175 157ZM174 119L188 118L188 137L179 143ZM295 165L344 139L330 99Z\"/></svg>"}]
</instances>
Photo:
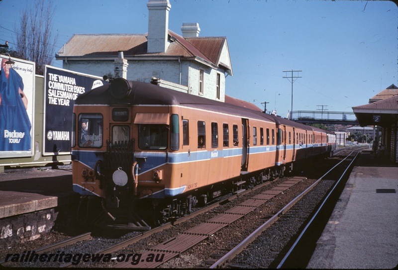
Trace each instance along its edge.
<instances>
[{"instance_id":1,"label":"clear blue sky above the house and train","mask_svg":"<svg viewBox=\"0 0 398 270\"><path fill-rule=\"evenodd\" d=\"M20 10L36 0L0 1L0 43L15 40ZM148 31L147 0L56 0L56 52L73 34ZM170 0L169 29L198 22L199 36L226 36L233 76L226 94L286 117L293 110L352 111L398 86L398 8L388 0ZM53 66L62 67L61 61ZM90 73L90 71L87 71ZM253 101L257 99L256 101Z\"/></svg>"}]
</instances>

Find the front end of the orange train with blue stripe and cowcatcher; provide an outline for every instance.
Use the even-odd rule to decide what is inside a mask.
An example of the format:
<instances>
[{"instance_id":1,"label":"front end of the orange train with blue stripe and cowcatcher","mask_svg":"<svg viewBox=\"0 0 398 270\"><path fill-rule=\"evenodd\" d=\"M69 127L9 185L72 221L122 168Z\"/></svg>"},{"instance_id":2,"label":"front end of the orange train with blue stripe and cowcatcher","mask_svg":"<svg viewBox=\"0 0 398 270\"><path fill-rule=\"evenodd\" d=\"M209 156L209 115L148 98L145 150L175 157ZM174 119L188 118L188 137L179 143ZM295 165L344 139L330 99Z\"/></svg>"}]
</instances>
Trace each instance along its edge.
<instances>
[{"instance_id":1,"label":"front end of the orange train with blue stripe and cowcatcher","mask_svg":"<svg viewBox=\"0 0 398 270\"><path fill-rule=\"evenodd\" d=\"M167 104L142 104L153 98L140 92L135 83L115 79L75 102L73 189L81 194L82 223L148 230L169 207L178 116Z\"/></svg>"}]
</instances>

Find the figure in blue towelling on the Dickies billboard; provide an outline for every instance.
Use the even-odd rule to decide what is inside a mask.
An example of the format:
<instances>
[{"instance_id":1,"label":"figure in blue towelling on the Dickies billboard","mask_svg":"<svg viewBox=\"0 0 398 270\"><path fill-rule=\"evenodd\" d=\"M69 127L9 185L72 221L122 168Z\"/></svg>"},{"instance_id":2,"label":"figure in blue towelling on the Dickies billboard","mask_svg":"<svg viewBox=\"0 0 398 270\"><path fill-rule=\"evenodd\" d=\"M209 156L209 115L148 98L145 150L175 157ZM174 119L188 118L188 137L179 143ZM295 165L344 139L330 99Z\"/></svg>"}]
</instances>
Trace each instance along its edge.
<instances>
[{"instance_id":1,"label":"figure in blue towelling on the Dickies billboard","mask_svg":"<svg viewBox=\"0 0 398 270\"><path fill-rule=\"evenodd\" d=\"M0 151L31 151L31 121L22 77L0 58ZM25 70L26 72L26 70Z\"/></svg>"}]
</instances>

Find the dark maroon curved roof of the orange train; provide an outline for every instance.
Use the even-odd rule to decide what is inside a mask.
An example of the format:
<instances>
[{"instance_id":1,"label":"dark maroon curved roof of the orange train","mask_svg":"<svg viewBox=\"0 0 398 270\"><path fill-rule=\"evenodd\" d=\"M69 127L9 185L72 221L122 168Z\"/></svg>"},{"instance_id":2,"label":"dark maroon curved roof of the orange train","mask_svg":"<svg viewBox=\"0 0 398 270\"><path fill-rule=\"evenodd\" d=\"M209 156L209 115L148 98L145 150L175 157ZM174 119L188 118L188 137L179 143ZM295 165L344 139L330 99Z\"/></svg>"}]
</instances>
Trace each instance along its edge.
<instances>
[{"instance_id":1,"label":"dark maroon curved roof of the orange train","mask_svg":"<svg viewBox=\"0 0 398 270\"><path fill-rule=\"evenodd\" d=\"M118 89L123 88L129 90L124 90L124 94L118 95ZM127 81L121 78L113 80L111 84L85 92L75 100L75 105L93 104L117 106L181 105L275 122L270 114L263 113L260 108L244 100L225 96L225 102L220 102L149 83Z\"/></svg>"}]
</instances>

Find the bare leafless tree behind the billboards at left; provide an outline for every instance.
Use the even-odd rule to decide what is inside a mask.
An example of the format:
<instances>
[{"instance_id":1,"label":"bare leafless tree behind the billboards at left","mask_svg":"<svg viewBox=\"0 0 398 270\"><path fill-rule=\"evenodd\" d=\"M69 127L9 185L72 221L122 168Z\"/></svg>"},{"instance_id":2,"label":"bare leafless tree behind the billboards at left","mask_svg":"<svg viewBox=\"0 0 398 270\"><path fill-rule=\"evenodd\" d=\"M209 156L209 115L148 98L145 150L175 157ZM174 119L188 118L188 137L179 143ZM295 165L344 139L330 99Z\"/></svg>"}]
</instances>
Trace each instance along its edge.
<instances>
[{"instance_id":1,"label":"bare leafless tree behind the billboards at left","mask_svg":"<svg viewBox=\"0 0 398 270\"><path fill-rule=\"evenodd\" d=\"M36 74L43 75L45 65L50 65L55 55L58 34L52 35L51 25L55 8L53 2L44 0L33 3L21 12L19 25L15 26L15 57L36 63Z\"/></svg>"}]
</instances>

